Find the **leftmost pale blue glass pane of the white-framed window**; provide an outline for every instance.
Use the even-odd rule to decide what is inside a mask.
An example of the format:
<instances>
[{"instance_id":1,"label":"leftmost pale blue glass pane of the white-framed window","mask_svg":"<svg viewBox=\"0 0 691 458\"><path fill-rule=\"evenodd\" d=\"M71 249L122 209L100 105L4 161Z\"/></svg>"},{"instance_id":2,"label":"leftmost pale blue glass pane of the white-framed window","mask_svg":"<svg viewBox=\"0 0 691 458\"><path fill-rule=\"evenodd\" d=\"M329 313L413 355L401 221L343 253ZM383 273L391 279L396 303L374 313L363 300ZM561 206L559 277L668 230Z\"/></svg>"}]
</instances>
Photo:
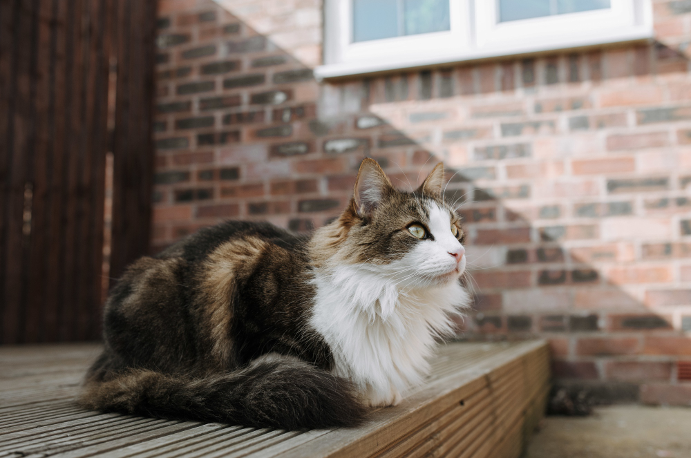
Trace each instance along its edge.
<instances>
[{"instance_id":1,"label":"leftmost pale blue glass pane of the white-framed window","mask_svg":"<svg viewBox=\"0 0 691 458\"><path fill-rule=\"evenodd\" d=\"M397 37L397 0L353 0L353 41Z\"/></svg>"}]
</instances>

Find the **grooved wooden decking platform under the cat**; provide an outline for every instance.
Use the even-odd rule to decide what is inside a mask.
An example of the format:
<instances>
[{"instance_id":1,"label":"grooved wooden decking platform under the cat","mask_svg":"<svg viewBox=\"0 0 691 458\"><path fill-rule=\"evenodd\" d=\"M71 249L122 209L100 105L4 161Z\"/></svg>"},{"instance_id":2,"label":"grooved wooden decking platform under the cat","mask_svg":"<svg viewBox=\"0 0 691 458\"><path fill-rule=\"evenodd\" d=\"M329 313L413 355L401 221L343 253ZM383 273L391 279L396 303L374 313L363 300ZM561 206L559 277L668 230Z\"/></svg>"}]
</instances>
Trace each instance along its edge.
<instances>
[{"instance_id":1,"label":"grooved wooden decking platform under the cat","mask_svg":"<svg viewBox=\"0 0 691 458\"><path fill-rule=\"evenodd\" d=\"M1 457L518 457L547 395L542 341L451 343L401 405L357 429L287 432L76 408L96 345L0 347Z\"/></svg>"}]
</instances>

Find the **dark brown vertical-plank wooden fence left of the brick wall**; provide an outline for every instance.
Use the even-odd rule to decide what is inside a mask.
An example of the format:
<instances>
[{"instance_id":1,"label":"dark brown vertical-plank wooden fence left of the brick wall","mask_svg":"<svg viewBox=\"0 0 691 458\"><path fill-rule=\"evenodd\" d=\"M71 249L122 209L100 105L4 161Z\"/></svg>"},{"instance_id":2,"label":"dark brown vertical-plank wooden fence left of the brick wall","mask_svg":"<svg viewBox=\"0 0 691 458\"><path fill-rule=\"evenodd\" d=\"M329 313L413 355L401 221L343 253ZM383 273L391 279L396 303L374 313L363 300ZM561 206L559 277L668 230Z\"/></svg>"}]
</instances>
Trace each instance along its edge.
<instances>
[{"instance_id":1,"label":"dark brown vertical-plank wooden fence left of the brick wall","mask_svg":"<svg viewBox=\"0 0 691 458\"><path fill-rule=\"evenodd\" d=\"M0 0L0 343L100 336L111 276L149 240L155 1Z\"/></svg>"}]
</instances>

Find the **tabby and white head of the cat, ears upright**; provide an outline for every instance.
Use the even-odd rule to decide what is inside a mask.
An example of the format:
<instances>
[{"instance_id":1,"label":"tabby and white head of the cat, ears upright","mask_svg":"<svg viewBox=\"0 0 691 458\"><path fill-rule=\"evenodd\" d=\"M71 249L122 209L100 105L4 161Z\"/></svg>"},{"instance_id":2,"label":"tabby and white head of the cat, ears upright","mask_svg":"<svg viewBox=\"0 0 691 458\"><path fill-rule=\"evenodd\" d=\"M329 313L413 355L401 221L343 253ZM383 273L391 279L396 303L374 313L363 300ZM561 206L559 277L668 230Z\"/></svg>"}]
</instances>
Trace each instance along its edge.
<instances>
[{"instance_id":1,"label":"tabby and white head of the cat, ears upright","mask_svg":"<svg viewBox=\"0 0 691 458\"><path fill-rule=\"evenodd\" d=\"M316 265L357 265L409 287L457 281L464 232L443 184L441 163L418 189L400 191L375 160L363 160L348 208L312 238Z\"/></svg>"}]
</instances>

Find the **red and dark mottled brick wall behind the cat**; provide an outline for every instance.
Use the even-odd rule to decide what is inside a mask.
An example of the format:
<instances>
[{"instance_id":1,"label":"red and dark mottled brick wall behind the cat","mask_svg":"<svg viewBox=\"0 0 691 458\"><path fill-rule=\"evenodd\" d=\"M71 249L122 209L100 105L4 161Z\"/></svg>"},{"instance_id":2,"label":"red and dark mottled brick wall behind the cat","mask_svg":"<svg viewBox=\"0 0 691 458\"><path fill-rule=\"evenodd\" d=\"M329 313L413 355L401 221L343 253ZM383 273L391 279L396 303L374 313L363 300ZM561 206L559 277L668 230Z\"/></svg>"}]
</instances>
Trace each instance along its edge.
<instances>
[{"instance_id":1,"label":"red and dark mottled brick wall behind the cat","mask_svg":"<svg viewBox=\"0 0 691 458\"><path fill-rule=\"evenodd\" d=\"M468 230L468 338L548 338L561 381L691 402L691 38L319 84L317 0L159 1L153 243L336 216L360 160L438 160ZM422 170L422 173L420 172Z\"/></svg>"}]
</instances>

